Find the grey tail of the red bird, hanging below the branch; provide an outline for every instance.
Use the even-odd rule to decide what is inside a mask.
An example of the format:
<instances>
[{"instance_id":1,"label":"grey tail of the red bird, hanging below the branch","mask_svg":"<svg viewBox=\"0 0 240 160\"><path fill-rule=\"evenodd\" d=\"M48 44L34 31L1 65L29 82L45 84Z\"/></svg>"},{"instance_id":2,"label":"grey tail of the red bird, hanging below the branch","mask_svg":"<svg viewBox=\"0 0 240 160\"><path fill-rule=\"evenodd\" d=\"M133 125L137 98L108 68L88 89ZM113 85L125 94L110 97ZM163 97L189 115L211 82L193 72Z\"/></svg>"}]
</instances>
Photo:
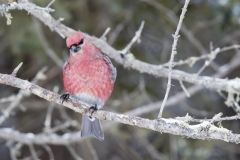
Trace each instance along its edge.
<instances>
[{"instance_id":1,"label":"grey tail of the red bird, hanging below the branch","mask_svg":"<svg viewBox=\"0 0 240 160\"><path fill-rule=\"evenodd\" d=\"M98 140L103 141L104 134L99 119L90 118L87 115L83 115L81 136L82 137L93 136L96 137Z\"/></svg>"}]
</instances>

